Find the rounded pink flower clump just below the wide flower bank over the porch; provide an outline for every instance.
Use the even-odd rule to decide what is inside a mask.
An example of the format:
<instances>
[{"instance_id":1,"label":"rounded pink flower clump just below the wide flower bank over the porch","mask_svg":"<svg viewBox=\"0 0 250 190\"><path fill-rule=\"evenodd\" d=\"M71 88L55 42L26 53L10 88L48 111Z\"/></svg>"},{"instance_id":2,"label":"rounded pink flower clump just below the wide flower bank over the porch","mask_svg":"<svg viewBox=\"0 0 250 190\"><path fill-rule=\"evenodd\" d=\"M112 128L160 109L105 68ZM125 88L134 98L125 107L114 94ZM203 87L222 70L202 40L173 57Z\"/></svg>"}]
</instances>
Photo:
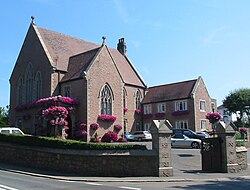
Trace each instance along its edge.
<instances>
[{"instance_id":1,"label":"rounded pink flower clump just below the wide flower bank over the porch","mask_svg":"<svg viewBox=\"0 0 250 190\"><path fill-rule=\"evenodd\" d=\"M53 106L46 110L43 110L42 115L45 118L56 118L56 117L66 118L68 113L69 112L65 107Z\"/></svg>"}]
</instances>

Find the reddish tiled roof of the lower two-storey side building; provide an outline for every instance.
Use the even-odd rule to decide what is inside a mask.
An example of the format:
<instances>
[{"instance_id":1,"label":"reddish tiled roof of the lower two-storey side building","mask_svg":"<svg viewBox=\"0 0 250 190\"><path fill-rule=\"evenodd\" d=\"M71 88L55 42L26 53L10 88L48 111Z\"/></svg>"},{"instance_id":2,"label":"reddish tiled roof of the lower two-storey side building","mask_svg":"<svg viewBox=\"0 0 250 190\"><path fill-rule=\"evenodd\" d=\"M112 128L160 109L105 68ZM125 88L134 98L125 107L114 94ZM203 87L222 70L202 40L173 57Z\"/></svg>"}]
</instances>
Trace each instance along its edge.
<instances>
[{"instance_id":1,"label":"reddish tiled roof of the lower two-storey side building","mask_svg":"<svg viewBox=\"0 0 250 190\"><path fill-rule=\"evenodd\" d=\"M147 104L190 98L196 81L197 79L150 87L142 103Z\"/></svg>"}]
</instances>

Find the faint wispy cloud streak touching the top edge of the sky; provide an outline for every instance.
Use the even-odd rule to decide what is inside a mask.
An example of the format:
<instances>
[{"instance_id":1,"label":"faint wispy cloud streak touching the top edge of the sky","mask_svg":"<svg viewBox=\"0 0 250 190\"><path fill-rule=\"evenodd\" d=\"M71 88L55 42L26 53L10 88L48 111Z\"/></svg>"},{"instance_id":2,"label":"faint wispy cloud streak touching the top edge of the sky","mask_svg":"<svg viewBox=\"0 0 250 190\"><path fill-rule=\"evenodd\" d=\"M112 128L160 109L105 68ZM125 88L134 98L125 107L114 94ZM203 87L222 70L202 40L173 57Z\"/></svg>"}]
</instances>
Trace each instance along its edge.
<instances>
[{"instance_id":1,"label":"faint wispy cloud streak touching the top edge of the sky","mask_svg":"<svg viewBox=\"0 0 250 190\"><path fill-rule=\"evenodd\" d=\"M135 18L132 18L126 7L124 6L124 4L122 3L121 0L113 0L114 4L115 4L115 8L119 14L119 16L121 17L122 21L126 24L134 24L136 23L138 20Z\"/></svg>"}]
</instances>

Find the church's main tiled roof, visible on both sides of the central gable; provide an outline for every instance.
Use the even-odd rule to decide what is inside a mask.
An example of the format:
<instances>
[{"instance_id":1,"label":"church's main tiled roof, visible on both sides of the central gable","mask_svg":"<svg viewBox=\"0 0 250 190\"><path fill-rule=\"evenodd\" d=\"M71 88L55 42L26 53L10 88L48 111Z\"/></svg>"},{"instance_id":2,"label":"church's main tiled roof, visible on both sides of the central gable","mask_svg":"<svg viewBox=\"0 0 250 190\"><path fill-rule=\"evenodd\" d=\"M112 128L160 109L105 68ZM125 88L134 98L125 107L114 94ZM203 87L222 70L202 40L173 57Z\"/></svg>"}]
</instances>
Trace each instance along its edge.
<instances>
[{"instance_id":1,"label":"church's main tiled roof, visible on both sides of the central gable","mask_svg":"<svg viewBox=\"0 0 250 190\"><path fill-rule=\"evenodd\" d=\"M72 79L72 77L75 78L77 75L79 75L80 72L79 71L78 73L76 73L76 68L73 69L71 66L69 66L68 68L68 64L74 62L69 61L70 57L78 55L79 57L82 57L82 59L86 58L87 60L82 60L80 61L80 63L77 63L78 65L83 66L86 64L86 62L90 61L90 58L93 58L93 52L91 52L90 50L100 47L99 44L87 42L82 39L47 30L41 27L35 27L38 29L39 34L46 48L48 49L49 55L54 62L54 66L56 66L58 70L73 72L67 74L67 77L63 79L64 81L70 80ZM136 72L132 63L127 59L126 56L123 56L116 49L109 48L109 51L114 59L114 62L124 83L140 87L146 86L146 84L143 82L142 78ZM85 67L82 68L86 69ZM73 76L74 74L75 76Z\"/></svg>"}]
</instances>

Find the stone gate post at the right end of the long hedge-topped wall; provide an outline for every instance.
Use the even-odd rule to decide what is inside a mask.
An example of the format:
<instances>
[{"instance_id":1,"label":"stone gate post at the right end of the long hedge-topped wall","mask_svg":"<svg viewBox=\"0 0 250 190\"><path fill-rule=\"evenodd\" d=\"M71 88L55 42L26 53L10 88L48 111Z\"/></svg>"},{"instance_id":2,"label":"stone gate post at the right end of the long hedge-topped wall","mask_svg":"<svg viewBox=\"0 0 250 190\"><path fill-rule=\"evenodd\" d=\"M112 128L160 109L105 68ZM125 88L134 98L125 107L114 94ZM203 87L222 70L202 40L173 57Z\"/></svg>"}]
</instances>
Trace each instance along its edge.
<instances>
[{"instance_id":1,"label":"stone gate post at the right end of the long hedge-topped wall","mask_svg":"<svg viewBox=\"0 0 250 190\"><path fill-rule=\"evenodd\" d=\"M171 158L172 125L168 120L153 120L150 132L152 134L152 149L158 155L158 176L173 176Z\"/></svg>"}]
</instances>

